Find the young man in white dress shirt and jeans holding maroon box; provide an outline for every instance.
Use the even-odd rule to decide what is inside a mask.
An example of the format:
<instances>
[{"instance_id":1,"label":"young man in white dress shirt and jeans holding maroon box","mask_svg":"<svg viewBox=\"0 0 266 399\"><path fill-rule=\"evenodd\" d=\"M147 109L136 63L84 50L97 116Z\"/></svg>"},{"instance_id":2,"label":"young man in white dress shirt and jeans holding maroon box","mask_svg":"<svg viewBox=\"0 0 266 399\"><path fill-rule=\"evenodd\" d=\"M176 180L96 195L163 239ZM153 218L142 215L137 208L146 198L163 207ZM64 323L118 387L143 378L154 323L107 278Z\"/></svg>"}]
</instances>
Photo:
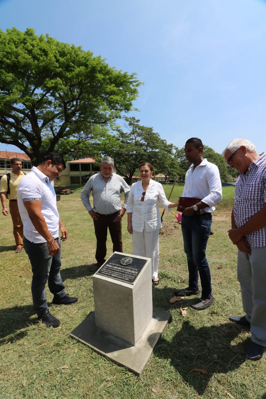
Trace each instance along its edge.
<instances>
[{"instance_id":1,"label":"young man in white dress shirt and jeans holding maroon box","mask_svg":"<svg viewBox=\"0 0 266 399\"><path fill-rule=\"evenodd\" d=\"M200 294L198 279L200 276L201 297L194 309L203 310L214 302L212 296L210 268L205 251L210 229L214 205L222 199L222 184L216 165L208 162L202 156L202 141L193 137L185 144L186 158L192 163L185 177L183 197L195 197L199 200L195 205L183 207L181 229L184 240L184 250L187 255L189 269L189 286L174 290L177 296Z\"/></svg>"}]
</instances>

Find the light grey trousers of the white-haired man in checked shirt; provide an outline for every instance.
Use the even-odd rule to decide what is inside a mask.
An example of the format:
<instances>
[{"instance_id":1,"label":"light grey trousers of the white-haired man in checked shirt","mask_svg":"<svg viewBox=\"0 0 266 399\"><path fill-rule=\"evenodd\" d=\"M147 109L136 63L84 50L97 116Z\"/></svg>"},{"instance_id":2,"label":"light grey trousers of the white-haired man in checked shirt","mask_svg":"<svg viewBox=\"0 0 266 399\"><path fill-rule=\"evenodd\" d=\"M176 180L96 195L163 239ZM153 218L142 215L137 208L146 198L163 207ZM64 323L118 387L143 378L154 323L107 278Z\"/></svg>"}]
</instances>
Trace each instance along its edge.
<instances>
[{"instance_id":1,"label":"light grey trousers of the white-haired man in checked shirt","mask_svg":"<svg viewBox=\"0 0 266 399\"><path fill-rule=\"evenodd\" d=\"M237 277L251 340L266 346L266 247L251 248L251 255L238 251Z\"/></svg>"}]
</instances>

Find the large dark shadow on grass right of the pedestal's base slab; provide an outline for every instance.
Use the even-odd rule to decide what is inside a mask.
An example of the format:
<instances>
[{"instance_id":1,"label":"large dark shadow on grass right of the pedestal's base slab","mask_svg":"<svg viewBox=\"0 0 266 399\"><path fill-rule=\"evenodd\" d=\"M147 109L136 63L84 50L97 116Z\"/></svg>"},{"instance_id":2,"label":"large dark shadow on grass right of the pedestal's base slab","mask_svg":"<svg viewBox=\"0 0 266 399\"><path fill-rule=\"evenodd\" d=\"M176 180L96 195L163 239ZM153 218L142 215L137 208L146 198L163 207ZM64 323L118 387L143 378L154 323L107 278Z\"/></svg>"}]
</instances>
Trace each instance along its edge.
<instances>
[{"instance_id":1,"label":"large dark shadow on grass right of the pedestal's base slab","mask_svg":"<svg viewBox=\"0 0 266 399\"><path fill-rule=\"evenodd\" d=\"M169 359L183 381L202 395L213 374L226 374L245 361L246 342L231 344L238 334L232 323L195 328L186 320L171 342L160 341L154 354Z\"/></svg>"}]
</instances>

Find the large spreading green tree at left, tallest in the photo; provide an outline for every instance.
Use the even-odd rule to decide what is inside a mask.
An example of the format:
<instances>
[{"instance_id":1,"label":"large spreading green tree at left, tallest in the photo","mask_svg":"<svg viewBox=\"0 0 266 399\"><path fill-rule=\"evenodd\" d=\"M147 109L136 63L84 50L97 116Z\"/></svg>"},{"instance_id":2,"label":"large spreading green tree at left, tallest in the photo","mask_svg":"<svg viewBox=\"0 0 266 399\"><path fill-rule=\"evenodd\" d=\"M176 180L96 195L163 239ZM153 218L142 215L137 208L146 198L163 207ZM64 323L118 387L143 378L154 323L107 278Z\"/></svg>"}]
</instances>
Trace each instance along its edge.
<instances>
[{"instance_id":1,"label":"large spreading green tree at left, tallest in the photo","mask_svg":"<svg viewBox=\"0 0 266 399\"><path fill-rule=\"evenodd\" d=\"M0 30L0 142L38 162L60 140L87 140L94 125L130 111L140 84L81 47Z\"/></svg>"}]
</instances>

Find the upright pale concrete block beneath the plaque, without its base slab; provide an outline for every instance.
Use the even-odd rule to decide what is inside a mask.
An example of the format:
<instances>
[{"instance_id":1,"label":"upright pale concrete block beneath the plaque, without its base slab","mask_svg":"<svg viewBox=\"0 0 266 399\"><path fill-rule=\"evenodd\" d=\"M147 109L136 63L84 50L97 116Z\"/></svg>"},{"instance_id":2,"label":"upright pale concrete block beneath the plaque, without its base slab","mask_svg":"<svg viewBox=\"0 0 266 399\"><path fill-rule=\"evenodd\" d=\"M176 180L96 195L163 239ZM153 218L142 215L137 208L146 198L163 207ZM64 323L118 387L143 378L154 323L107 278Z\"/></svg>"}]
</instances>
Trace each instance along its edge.
<instances>
[{"instance_id":1,"label":"upright pale concrete block beneath the plaque, without its base slab","mask_svg":"<svg viewBox=\"0 0 266 399\"><path fill-rule=\"evenodd\" d=\"M151 259L137 256L134 259L145 259L146 263L133 284L93 275L96 327L132 345L153 316Z\"/></svg>"}]
</instances>

